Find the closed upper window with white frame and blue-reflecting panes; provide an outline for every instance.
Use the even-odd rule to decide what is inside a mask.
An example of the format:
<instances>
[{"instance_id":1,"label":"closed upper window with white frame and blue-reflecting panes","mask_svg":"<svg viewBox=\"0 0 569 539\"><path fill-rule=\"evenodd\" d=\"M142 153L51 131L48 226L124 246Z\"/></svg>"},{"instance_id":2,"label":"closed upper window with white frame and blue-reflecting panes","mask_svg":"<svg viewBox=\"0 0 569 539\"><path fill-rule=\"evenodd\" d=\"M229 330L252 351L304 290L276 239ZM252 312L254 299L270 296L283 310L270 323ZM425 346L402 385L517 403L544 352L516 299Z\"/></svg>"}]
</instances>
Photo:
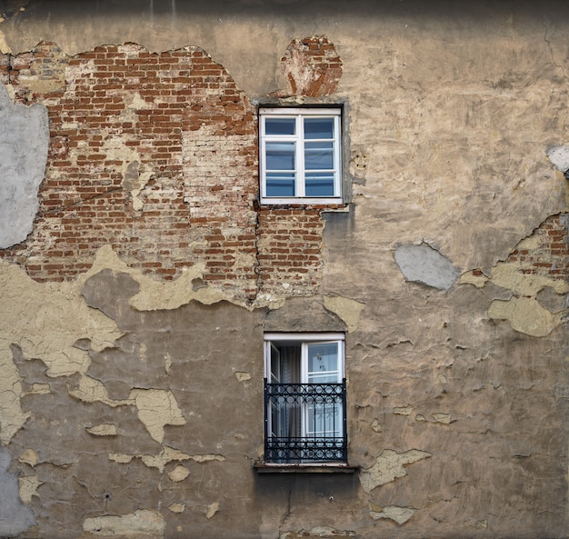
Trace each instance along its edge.
<instances>
[{"instance_id":1,"label":"closed upper window with white frame and blue-reflecting panes","mask_svg":"<svg viewBox=\"0 0 569 539\"><path fill-rule=\"evenodd\" d=\"M341 110L259 110L261 204L342 203Z\"/></svg>"}]
</instances>

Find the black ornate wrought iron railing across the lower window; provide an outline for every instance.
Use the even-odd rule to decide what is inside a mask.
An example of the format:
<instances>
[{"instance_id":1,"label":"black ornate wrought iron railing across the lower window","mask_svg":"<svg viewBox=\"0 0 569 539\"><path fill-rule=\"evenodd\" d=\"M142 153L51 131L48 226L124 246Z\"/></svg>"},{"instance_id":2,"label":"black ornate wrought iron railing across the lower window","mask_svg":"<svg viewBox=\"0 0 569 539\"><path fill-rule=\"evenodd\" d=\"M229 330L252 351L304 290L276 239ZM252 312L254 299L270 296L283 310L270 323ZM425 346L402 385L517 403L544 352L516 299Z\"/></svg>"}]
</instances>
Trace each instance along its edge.
<instances>
[{"instance_id":1,"label":"black ornate wrought iron railing across the lower window","mask_svg":"<svg viewBox=\"0 0 569 539\"><path fill-rule=\"evenodd\" d=\"M345 379L340 384L268 384L265 462L347 462Z\"/></svg>"}]
</instances>

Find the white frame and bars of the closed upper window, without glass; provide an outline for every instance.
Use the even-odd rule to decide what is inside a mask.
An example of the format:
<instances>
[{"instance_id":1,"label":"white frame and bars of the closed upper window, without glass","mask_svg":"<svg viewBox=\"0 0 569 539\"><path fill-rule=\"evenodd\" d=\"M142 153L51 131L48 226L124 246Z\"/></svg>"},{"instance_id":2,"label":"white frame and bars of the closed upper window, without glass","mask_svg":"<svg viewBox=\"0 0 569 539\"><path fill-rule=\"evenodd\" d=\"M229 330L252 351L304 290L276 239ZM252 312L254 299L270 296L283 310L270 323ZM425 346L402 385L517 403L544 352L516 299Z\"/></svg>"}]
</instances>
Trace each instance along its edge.
<instances>
[{"instance_id":1,"label":"white frame and bars of the closed upper window, without glass","mask_svg":"<svg viewBox=\"0 0 569 539\"><path fill-rule=\"evenodd\" d=\"M304 118L328 116L334 118L334 195L306 196L304 169ZM266 135L265 118L294 118L294 135ZM326 139L327 140L327 139ZM260 195L263 205L310 205L342 204L342 111L340 108L284 108L262 107L259 109L259 142L260 142ZM294 142L295 144L295 194L294 196L277 197L266 194L266 143ZM309 139L308 142L313 142ZM317 142L317 141L316 141Z\"/></svg>"}]
</instances>

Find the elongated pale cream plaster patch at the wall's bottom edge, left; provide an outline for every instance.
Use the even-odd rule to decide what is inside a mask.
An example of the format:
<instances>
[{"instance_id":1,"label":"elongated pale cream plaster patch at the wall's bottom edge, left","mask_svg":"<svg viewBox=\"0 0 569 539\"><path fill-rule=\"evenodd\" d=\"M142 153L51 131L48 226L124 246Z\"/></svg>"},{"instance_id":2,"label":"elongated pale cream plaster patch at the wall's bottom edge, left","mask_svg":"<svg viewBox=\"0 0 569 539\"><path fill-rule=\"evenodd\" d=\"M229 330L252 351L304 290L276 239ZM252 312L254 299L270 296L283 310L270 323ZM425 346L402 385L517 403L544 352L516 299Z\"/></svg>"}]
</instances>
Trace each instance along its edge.
<instances>
[{"instance_id":1,"label":"elongated pale cream plaster patch at the wall's bottom edge, left","mask_svg":"<svg viewBox=\"0 0 569 539\"><path fill-rule=\"evenodd\" d=\"M132 514L105 514L86 518L83 523L87 537L117 537L123 539L158 539L165 536L165 520L156 511L139 509Z\"/></svg>"}]
</instances>

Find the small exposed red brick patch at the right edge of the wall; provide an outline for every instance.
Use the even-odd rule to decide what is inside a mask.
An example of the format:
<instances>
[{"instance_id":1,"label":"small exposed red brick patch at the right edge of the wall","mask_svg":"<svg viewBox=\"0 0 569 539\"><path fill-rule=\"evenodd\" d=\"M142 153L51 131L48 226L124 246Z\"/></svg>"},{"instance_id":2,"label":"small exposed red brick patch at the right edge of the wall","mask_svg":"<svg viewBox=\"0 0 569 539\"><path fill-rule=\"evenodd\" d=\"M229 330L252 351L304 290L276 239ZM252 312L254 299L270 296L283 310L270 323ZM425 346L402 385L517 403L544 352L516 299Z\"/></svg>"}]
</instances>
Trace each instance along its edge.
<instances>
[{"instance_id":1,"label":"small exposed red brick patch at the right edge of the wall","mask_svg":"<svg viewBox=\"0 0 569 539\"><path fill-rule=\"evenodd\" d=\"M548 217L534 230L535 248L518 248L506 262L520 265L523 274L569 280L569 215Z\"/></svg>"}]
</instances>

